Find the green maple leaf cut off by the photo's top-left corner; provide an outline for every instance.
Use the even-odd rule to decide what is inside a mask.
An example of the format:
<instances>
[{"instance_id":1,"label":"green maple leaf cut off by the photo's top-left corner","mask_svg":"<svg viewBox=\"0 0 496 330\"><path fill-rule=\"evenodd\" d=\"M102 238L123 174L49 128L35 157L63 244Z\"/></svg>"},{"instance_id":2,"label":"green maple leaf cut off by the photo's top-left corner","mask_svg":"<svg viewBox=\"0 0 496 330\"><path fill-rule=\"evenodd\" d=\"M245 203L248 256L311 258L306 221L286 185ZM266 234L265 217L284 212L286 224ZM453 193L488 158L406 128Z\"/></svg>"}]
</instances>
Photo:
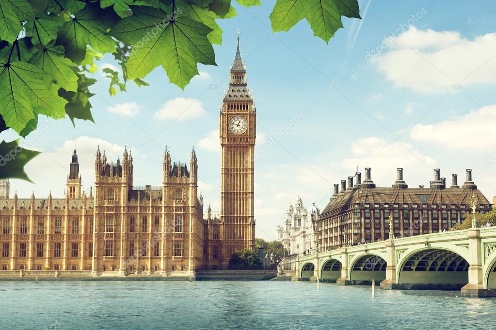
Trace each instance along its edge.
<instances>
[{"instance_id":1,"label":"green maple leaf cut off by the photo's top-left corner","mask_svg":"<svg viewBox=\"0 0 496 330\"><path fill-rule=\"evenodd\" d=\"M27 0L0 1L0 40L12 43L22 30L21 21L33 19L33 8Z\"/></svg>"}]
</instances>

